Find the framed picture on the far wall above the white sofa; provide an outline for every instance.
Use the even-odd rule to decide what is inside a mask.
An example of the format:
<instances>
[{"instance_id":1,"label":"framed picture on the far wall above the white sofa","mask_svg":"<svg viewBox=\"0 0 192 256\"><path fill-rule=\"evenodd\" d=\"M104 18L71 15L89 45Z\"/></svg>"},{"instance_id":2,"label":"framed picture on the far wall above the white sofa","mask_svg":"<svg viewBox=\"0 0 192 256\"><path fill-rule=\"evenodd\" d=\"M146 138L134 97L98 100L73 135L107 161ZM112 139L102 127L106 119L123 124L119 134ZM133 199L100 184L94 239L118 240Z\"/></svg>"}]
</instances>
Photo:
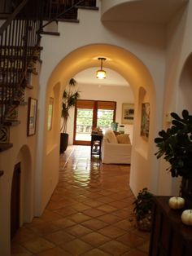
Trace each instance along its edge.
<instances>
[{"instance_id":1,"label":"framed picture on the far wall above the white sofa","mask_svg":"<svg viewBox=\"0 0 192 256\"><path fill-rule=\"evenodd\" d=\"M134 104L122 104L122 124L133 124Z\"/></svg>"}]
</instances>

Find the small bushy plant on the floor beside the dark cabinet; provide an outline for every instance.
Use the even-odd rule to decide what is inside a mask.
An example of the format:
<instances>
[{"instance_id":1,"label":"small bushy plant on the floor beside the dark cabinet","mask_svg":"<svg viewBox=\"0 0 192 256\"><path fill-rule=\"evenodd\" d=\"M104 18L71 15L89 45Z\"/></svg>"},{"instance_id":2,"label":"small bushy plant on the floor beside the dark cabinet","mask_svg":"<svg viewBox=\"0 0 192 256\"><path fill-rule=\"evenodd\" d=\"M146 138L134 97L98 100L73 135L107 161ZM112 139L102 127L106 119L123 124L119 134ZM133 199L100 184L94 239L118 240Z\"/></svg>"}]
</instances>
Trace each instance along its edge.
<instances>
[{"instance_id":1,"label":"small bushy plant on the floor beside the dark cabinet","mask_svg":"<svg viewBox=\"0 0 192 256\"><path fill-rule=\"evenodd\" d=\"M147 188L143 188L138 192L137 198L133 201L133 213L136 214L137 221L146 218L148 214L151 214L153 207L153 194L148 191Z\"/></svg>"}]
</instances>

